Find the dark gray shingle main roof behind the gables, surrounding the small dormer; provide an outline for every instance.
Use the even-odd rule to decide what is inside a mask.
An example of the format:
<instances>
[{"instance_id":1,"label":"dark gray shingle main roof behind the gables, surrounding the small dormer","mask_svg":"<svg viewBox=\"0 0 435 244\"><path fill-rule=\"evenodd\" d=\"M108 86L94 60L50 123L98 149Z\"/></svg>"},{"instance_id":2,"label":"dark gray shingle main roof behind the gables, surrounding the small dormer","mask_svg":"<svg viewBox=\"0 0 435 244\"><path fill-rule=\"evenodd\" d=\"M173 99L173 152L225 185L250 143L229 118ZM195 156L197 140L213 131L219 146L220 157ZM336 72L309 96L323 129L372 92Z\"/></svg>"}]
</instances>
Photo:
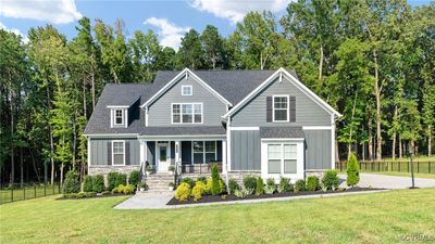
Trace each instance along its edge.
<instances>
[{"instance_id":1,"label":"dark gray shingle main roof behind the gables, surrounding the small dormer","mask_svg":"<svg viewBox=\"0 0 435 244\"><path fill-rule=\"evenodd\" d=\"M275 70L192 70L233 105L240 102ZM296 76L295 70L288 70ZM85 134L98 133L141 133L145 128L145 114L139 106L171 81L179 70L158 72L149 84L108 84L104 87L92 115L85 129ZM130 106L127 128L110 128L108 105ZM199 127L196 127L199 128ZM157 131L157 130L156 130ZM195 133L195 131L190 131ZM211 134L211 133L209 133Z\"/></svg>"}]
</instances>

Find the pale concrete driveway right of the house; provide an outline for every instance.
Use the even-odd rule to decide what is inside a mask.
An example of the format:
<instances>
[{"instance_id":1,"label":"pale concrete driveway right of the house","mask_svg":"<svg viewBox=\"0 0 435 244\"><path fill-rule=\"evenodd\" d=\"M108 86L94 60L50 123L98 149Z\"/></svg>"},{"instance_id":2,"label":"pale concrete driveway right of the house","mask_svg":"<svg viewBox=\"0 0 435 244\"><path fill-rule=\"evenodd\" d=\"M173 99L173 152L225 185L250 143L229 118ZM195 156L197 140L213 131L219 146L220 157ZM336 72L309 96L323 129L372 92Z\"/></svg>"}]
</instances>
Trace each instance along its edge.
<instances>
[{"instance_id":1,"label":"pale concrete driveway right of the house","mask_svg":"<svg viewBox=\"0 0 435 244\"><path fill-rule=\"evenodd\" d=\"M343 180L340 187L347 187L347 176L344 174L339 174L338 177ZM407 189L411 187L411 178L376 174L360 174L360 182L358 183L358 185L361 188L373 187L384 189ZM435 179L415 178L415 187L435 188Z\"/></svg>"}]
</instances>

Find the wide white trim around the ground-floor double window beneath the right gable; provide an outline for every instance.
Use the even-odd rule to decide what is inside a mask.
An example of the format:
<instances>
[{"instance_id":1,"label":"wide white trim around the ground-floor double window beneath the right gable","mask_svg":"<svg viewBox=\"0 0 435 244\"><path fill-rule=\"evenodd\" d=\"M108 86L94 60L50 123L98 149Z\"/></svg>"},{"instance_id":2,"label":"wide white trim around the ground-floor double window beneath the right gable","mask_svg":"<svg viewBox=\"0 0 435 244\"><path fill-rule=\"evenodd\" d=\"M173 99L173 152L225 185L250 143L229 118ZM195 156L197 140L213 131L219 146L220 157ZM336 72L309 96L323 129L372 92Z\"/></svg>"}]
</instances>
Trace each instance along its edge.
<instances>
[{"instance_id":1,"label":"wide white trim around the ground-floor double window beneath the right gable","mask_svg":"<svg viewBox=\"0 0 435 244\"><path fill-rule=\"evenodd\" d=\"M283 160L281 163L282 171L281 174L269 174L269 165L268 165L268 145L269 144L296 144L296 174L284 174L284 164ZM282 147L282 154L284 153ZM290 178L293 182L299 179L303 179L303 156L304 149L303 149L303 140L283 140L283 139L275 139L275 140L261 140L261 177L263 179L273 178L275 182L279 182L281 177ZM282 158L283 159L283 158Z\"/></svg>"}]
</instances>

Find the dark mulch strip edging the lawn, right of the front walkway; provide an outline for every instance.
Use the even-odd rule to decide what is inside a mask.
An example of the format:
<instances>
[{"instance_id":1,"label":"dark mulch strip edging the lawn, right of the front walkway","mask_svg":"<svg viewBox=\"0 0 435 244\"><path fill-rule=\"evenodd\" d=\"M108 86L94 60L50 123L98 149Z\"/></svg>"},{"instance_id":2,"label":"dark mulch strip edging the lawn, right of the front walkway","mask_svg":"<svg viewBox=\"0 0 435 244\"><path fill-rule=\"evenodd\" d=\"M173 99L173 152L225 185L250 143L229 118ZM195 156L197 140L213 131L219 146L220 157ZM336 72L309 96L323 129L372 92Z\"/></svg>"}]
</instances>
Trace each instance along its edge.
<instances>
[{"instance_id":1,"label":"dark mulch strip edging the lawn, right of the front walkway","mask_svg":"<svg viewBox=\"0 0 435 244\"><path fill-rule=\"evenodd\" d=\"M200 204L200 203L215 203L215 202L232 202L232 201L244 201L244 200L262 200L262 198L278 198L278 197L288 197L288 196L300 196L300 195L322 195L322 194L336 194L344 192L366 192L366 191L378 191L385 189L375 189L375 188L353 188L347 189L345 191L304 191L304 192L285 192L285 193L274 193L274 194L263 194L263 195L247 195L243 198L239 198L235 195L226 195L226 198L223 200L222 195L204 195L201 200L195 202L194 198L189 198L186 202L179 202L175 197L172 197L166 205L186 205L186 204Z\"/></svg>"}]
</instances>

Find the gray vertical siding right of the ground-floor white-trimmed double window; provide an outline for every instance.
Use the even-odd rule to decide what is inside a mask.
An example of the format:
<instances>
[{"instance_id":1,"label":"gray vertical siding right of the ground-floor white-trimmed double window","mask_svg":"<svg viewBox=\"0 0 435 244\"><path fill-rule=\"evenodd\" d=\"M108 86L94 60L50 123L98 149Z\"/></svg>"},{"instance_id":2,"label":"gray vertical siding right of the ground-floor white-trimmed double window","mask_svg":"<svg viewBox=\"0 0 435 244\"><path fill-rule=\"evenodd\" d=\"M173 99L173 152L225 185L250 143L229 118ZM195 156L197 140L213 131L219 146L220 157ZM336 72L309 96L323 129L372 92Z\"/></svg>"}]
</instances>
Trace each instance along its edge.
<instances>
[{"instance_id":1,"label":"gray vertical siding right of the ground-floor white-trimmed double window","mask_svg":"<svg viewBox=\"0 0 435 244\"><path fill-rule=\"evenodd\" d=\"M331 169L331 130L303 130L306 169Z\"/></svg>"}]
</instances>

